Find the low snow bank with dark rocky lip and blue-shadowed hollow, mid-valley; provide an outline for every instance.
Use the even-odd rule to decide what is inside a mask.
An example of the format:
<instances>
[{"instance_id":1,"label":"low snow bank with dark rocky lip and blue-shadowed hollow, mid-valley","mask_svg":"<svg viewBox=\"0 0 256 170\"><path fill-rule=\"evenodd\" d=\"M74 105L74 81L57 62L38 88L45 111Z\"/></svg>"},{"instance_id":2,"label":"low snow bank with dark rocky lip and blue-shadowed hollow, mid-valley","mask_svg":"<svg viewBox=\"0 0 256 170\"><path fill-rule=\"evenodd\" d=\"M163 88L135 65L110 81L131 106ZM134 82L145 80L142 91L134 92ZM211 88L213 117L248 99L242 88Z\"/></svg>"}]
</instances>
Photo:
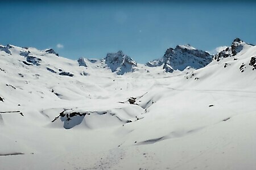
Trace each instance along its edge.
<instances>
[{"instance_id":1,"label":"low snow bank with dark rocky lip and blue-shadowed hollow, mid-valley","mask_svg":"<svg viewBox=\"0 0 256 170\"><path fill-rule=\"evenodd\" d=\"M122 105L120 108L111 108L107 111L85 111L86 108L63 109L64 111L56 115L52 122L60 119L64 122L65 129L71 129L81 123L89 129L124 125L141 120L142 114L145 113L143 108L138 105ZM42 111L42 113L46 114L46 111Z\"/></svg>"}]
</instances>

